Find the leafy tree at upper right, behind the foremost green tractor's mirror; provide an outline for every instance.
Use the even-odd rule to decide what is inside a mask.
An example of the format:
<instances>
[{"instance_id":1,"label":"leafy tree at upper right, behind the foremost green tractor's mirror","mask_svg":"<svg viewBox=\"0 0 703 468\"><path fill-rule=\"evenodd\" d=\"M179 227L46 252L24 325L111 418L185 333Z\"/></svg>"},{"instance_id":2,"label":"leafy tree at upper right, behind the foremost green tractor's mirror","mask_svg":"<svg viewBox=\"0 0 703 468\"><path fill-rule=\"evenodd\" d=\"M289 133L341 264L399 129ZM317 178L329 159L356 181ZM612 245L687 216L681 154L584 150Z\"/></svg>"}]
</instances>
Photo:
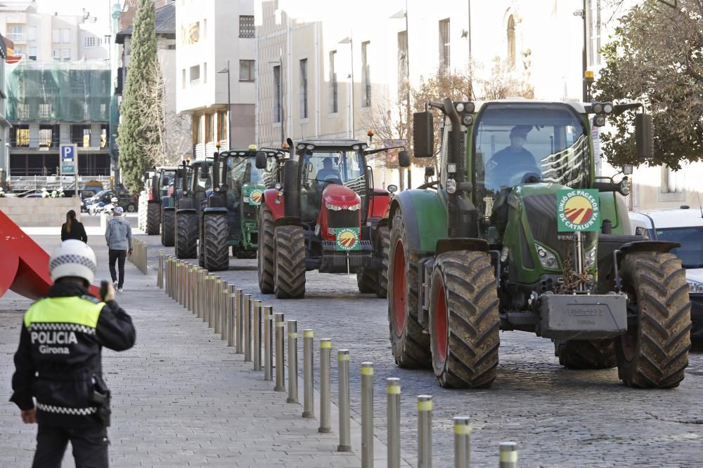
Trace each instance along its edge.
<instances>
[{"instance_id":1,"label":"leafy tree at upper right, behind the foremost green tractor's mirror","mask_svg":"<svg viewBox=\"0 0 703 468\"><path fill-rule=\"evenodd\" d=\"M633 116L614 117L614 133L602 134L613 166L666 164L703 158L703 2L645 0L633 7L602 48L607 66L593 84L598 101L643 102L654 119L654 156L638 159Z\"/></svg>"}]
</instances>

